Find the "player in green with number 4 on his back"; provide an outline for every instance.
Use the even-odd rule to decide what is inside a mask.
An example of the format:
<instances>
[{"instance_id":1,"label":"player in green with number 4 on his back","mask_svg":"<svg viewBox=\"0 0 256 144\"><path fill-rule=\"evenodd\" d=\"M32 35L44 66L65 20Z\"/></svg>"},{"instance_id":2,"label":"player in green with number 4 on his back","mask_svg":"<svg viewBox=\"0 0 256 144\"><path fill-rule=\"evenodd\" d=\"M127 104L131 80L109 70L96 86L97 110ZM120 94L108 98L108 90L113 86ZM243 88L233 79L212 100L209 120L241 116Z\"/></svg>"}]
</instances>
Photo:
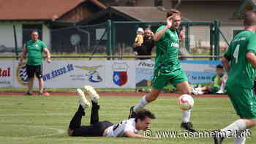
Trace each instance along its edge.
<instances>
[{"instance_id":1,"label":"player in green with number 4 on his back","mask_svg":"<svg viewBox=\"0 0 256 144\"><path fill-rule=\"evenodd\" d=\"M222 58L222 64L228 72L227 94L240 119L216 131L215 144L222 143L225 137L230 136L235 136L235 144L244 144L246 137L241 137L241 134L256 125L256 97L253 91L256 76L255 12L245 13L244 26L244 31L233 38Z\"/></svg>"}]
</instances>

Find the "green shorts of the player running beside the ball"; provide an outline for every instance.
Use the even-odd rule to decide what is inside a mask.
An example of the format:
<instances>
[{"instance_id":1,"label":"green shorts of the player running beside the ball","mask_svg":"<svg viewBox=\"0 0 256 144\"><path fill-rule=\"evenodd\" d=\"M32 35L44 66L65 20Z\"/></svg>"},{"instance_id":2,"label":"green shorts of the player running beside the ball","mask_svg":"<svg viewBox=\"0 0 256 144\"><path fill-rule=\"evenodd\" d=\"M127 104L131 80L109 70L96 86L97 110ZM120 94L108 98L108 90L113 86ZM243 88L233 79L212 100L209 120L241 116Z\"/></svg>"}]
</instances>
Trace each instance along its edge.
<instances>
[{"instance_id":1,"label":"green shorts of the player running beside the ball","mask_svg":"<svg viewBox=\"0 0 256 144\"><path fill-rule=\"evenodd\" d=\"M159 70L154 72L154 77L152 80L152 87L161 90L165 88L168 83L176 86L178 83L187 81L187 75L182 70L177 70L170 75L162 75Z\"/></svg>"}]
</instances>

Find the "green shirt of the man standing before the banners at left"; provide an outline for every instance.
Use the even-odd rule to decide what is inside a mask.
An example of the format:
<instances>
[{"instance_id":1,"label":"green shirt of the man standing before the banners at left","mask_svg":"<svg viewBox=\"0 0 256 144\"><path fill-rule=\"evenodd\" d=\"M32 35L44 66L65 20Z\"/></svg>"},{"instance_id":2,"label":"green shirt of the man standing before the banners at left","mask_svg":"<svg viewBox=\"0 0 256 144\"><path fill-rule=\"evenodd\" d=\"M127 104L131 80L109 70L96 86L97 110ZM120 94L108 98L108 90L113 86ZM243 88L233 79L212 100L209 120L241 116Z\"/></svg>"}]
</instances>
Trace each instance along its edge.
<instances>
[{"instance_id":1,"label":"green shirt of the man standing before the banners at left","mask_svg":"<svg viewBox=\"0 0 256 144\"><path fill-rule=\"evenodd\" d=\"M25 46L28 53L28 65L37 66L42 64L42 50L46 48L45 42L41 40L26 42Z\"/></svg>"}]
</instances>

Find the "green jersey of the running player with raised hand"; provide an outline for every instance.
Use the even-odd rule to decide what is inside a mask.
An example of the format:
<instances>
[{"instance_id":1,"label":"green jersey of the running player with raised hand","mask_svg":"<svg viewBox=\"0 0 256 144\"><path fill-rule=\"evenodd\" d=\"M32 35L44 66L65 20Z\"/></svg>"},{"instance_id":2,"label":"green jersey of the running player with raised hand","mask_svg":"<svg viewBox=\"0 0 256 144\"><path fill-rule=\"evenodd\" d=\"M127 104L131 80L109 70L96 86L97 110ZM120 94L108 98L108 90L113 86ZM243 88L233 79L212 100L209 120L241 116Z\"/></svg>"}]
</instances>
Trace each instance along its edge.
<instances>
[{"instance_id":1,"label":"green jersey of the running player with raised hand","mask_svg":"<svg viewBox=\"0 0 256 144\"><path fill-rule=\"evenodd\" d=\"M165 25L160 26L157 32L164 28ZM176 30L167 29L165 34L155 44L157 47L155 71L161 69L158 71L161 75L170 75L172 72L181 69L181 64L178 60L179 39Z\"/></svg>"}]
</instances>

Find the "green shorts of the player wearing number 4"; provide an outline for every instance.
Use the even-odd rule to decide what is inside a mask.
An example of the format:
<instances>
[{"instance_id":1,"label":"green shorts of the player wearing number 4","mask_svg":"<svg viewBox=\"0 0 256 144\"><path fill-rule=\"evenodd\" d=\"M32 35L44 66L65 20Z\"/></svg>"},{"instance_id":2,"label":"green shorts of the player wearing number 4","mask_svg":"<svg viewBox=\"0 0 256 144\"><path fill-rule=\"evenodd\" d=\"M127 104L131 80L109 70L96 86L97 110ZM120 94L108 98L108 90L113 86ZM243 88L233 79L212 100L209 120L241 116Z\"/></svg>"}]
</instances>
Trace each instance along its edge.
<instances>
[{"instance_id":1,"label":"green shorts of the player wearing number 4","mask_svg":"<svg viewBox=\"0 0 256 144\"><path fill-rule=\"evenodd\" d=\"M256 118L256 97L252 88L226 86L227 94L236 113L242 118Z\"/></svg>"}]
</instances>

